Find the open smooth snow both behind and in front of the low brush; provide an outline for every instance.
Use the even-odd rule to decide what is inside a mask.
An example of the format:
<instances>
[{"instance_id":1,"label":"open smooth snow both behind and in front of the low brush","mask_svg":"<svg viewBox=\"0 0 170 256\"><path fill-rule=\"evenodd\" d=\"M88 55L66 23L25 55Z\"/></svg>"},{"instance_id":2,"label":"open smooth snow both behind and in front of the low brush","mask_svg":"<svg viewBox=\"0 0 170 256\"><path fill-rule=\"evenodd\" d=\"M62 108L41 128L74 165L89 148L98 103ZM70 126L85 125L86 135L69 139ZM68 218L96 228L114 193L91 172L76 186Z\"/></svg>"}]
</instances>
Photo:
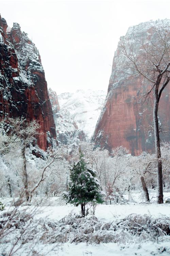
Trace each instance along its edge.
<instances>
[{"instance_id":1,"label":"open smooth snow both behind and in front of the low brush","mask_svg":"<svg viewBox=\"0 0 170 256\"><path fill-rule=\"evenodd\" d=\"M170 193L164 193L164 197L169 197ZM135 197L135 195L134 195ZM138 195L136 195L136 198ZM51 198L50 204L53 206L36 207L37 212L34 216L35 221L41 220L46 222L60 221L66 215L70 213L80 214L80 207L74 207L72 205L56 205L59 199ZM4 203L8 204L9 199L1 199ZM5 202L6 201L6 202ZM138 200L136 200L138 201ZM139 200L140 201L140 200ZM6 205L6 211L8 210ZM27 209L26 209L27 208ZM30 211L35 209L34 206L20 207L18 210ZM121 219L126 218L130 214L150 215L154 218L168 217L170 218L170 204L158 205L155 202L152 203L139 203L130 202L129 204L116 204L116 205L97 205L95 216L102 222L119 222ZM6 243L0 244L0 255L9 255L9 248L14 242L14 233L11 234ZM18 245L20 242L18 242ZM103 243L96 244L94 242L81 242L81 243L42 243L37 242L34 244L34 250L32 250L32 242L23 244L23 246L14 255L57 255L57 256L149 256L149 255L170 255L170 236L158 237L154 240L142 240L135 239L129 242L116 242L116 243ZM31 252L31 253L30 253ZM32 253L34 252L34 253Z\"/></svg>"}]
</instances>

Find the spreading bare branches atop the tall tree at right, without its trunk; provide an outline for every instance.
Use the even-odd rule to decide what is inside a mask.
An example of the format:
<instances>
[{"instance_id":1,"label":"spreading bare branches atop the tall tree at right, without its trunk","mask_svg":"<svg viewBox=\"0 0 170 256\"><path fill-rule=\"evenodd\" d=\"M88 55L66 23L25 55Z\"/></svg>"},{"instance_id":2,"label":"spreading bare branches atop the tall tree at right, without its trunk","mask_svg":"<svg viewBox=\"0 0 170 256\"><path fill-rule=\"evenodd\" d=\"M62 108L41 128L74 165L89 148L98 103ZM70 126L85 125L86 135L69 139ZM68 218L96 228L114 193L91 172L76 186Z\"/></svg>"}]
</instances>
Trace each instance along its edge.
<instances>
[{"instance_id":1,"label":"spreading bare branches atop the tall tree at right, without its trunk","mask_svg":"<svg viewBox=\"0 0 170 256\"><path fill-rule=\"evenodd\" d=\"M121 38L122 53L126 56L125 68L142 75L153 84L159 82L159 97L170 80L170 24L160 23L151 33L141 34L135 41ZM148 91L148 93L151 92Z\"/></svg>"}]
</instances>

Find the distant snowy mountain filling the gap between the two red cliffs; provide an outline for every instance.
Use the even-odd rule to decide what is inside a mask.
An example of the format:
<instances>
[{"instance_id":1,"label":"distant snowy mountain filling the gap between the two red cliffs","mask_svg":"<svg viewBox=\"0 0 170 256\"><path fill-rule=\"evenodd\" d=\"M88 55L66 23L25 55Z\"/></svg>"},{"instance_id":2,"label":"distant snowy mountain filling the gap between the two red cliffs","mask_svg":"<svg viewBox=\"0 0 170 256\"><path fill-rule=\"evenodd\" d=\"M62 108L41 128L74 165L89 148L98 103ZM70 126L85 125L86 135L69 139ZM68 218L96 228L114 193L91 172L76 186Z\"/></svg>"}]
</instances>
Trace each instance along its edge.
<instances>
[{"instance_id":1,"label":"distant snowy mountain filling the gap between the two red cliffs","mask_svg":"<svg viewBox=\"0 0 170 256\"><path fill-rule=\"evenodd\" d=\"M76 144L78 141L90 139L106 93L100 90L77 90L75 93L58 95L56 99L56 93L52 94L49 89L49 95L56 124L57 140L63 144ZM58 102L60 107L58 107Z\"/></svg>"}]
</instances>

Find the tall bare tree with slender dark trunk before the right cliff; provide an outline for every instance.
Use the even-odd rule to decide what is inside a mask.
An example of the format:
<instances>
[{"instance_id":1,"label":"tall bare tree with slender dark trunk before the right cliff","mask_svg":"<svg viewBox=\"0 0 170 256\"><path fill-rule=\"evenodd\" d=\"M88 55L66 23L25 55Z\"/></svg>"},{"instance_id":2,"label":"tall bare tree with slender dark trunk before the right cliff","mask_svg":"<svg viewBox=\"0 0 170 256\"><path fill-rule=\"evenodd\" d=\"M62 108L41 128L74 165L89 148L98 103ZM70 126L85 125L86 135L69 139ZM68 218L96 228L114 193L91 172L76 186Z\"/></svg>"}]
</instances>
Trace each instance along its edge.
<instances>
[{"instance_id":1,"label":"tall bare tree with slender dark trunk before the right cliff","mask_svg":"<svg viewBox=\"0 0 170 256\"><path fill-rule=\"evenodd\" d=\"M170 25L163 22L152 28L152 34L145 33L135 39L121 38L122 53L126 57L126 67L141 75L151 85L145 99L154 92L154 137L157 156L157 202L163 203L162 160L158 125L158 106L163 90L170 80Z\"/></svg>"}]
</instances>

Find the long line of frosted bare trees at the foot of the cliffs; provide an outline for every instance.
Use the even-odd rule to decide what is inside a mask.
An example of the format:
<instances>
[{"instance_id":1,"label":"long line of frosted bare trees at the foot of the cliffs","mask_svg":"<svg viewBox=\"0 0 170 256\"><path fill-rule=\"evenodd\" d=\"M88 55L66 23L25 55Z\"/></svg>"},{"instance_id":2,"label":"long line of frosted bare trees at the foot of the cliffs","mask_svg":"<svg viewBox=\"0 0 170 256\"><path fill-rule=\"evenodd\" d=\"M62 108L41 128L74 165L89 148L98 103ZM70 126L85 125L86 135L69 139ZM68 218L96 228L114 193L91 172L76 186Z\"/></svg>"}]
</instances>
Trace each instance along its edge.
<instances>
[{"instance_id":1,"label":"long line of frosted bare trees at the foot of the cliffs","mask_svg":"<svg viewBox=\"0 0 170 256\"><path fill-rule=\"evenodd\" d=\"M84 186L85 183L89 187L100 184L96 189L103 191L103 195L96 202L106 204L131 201L135 191L149 201L150 191L157 187L156 154L143 152L140 156L131 156L122 146L109 153L95 148L92 142L81 142L74 149L60 145L44 152L35 143L39 129L36 121L27 123L24 118L10 118L2 120L0 127L0 197L20 198L23 191L27 203L37 204L50 197L62 197L65 191L70 191L70 184L77 181L81 173L85 175L83 181L80 179ZM161 152L163 186L168 190L170 144L163 143ZM92 185L88 184L90 177ZM87 191L89 193L89 188ZM85 195L82 204L88 201ZM97 194L93 196L95 198Z\"/></svg>"}]
</instances>

